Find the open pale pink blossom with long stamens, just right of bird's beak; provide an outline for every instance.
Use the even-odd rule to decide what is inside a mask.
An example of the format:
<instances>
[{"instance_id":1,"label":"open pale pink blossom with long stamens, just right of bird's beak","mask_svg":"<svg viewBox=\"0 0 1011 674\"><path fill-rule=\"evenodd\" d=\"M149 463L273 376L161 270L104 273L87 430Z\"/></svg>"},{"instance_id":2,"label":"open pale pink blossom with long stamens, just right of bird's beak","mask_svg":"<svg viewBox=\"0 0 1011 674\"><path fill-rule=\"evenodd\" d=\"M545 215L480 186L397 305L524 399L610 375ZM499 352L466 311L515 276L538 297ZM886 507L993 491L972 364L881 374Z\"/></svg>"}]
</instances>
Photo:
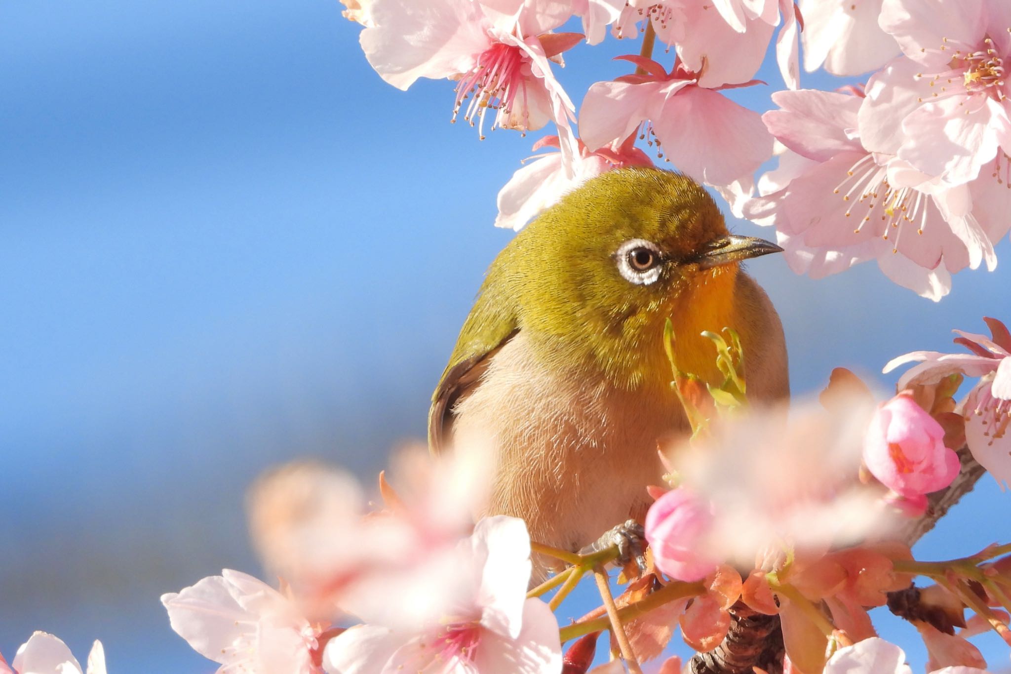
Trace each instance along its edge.
<instances>
[{"instance_id":1,"label":"open pale pink blossom with long stamens, just right of bird's beak","mask_svg":"<svg viewBox=\"0 0 1011 674\"><path fill-rule=\"evenodd\" d=\"M773 224L788 262L824 276L877 259L897 283L931 299L950 273L996 257L963 188L945 188L907 162L865 148L858 95L801 90L772 95L762 119L786 147L780 169L759 181L745 216Z\"/></svg>"}]
</instances>

